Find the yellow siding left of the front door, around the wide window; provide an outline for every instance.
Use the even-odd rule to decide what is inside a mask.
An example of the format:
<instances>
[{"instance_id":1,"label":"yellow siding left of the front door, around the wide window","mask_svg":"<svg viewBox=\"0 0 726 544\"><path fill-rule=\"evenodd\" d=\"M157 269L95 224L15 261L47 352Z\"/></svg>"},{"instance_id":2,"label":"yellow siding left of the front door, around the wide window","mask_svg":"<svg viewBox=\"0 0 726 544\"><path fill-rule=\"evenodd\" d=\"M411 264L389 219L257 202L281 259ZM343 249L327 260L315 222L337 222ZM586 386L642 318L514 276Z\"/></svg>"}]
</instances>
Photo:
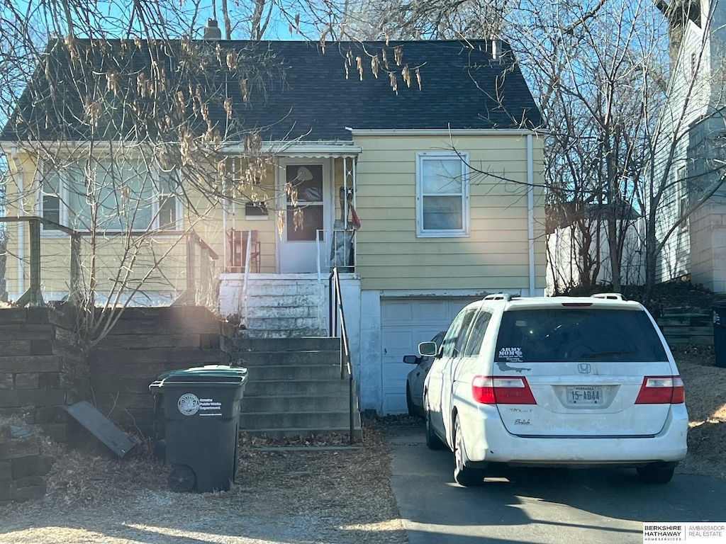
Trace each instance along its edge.
<instances>
[{"instance_id":1,"label":"yellow siding left of the front door, around the wide window","mask_svg":"<svg viewBox=\"0 0 726 544\"><path fill-rule=\"evenodd\" d=\"M9 161L11 168L11 181L8 186L7 215L37 215L36 202L38 199L38 186L36 182L36 160L32 155L20 157L23 164L23 185L22 199L18 191L17 171L15 161ZM200 170L202 170L200 168ZM216 168L209 165L205 169L208 179L219 178ZM197 180L198 181L198 180ZM187 187L189 185L187 184ZM274 194L274 168L269 168L266 178L261 180L258 188L250 191L250 195L258 199L266 199L268 195ZM226 236L224 234L225 222L224 206L219 201L210 201L203 197L200 191L190 191L189 199L193 202L193 210L190 207L182 211L184 218L184 231L193 228L200 238L209 244L214 252L219 255L216 260L216 273L224 270L226 255ZM23 211L21 213L20 203ZM245 207L243 203L234 205L227 204L228 214L226 228L237 228L240 230L256 229L258 239L261 241L261 272L274 272L275 270L275 244L277 236L277 221L275 206L269 205L269 218L266 220L248 221L245 219ZM20 235L18 229L23 230ZM9 258L7 261L7 290L10 293L19 294L22 289L28 289L29 257L30 257L30 232L28 223L9 223ZM81 269L83 271L83 282L86 287L89 284L91 267L95 268L97 281L97 292L108 292L113 283L119 279L127 284L129 289L135 289L139 281L144 282L144 289L156 292L179 293L186 286L187 248L184 239L184 231L176 233L159 233L147 236L143 241L137 241L127 249L124 249L125 242L122 236L99 236L97 239L97 250L91 250L90 239L83 237L81 243ZM23 247L19 246L19 239L23 237ZM23 255L25 274L23 285L18 281L18 256ZM94 263L91 263L91 255L96 256ZM198 254L197 254L198 255ZM121 266L121 260L126 256L125 265ZM197 278L199 276L197 256ZM127 273L127 270L131 272ZM68 293L70 284L70 237L58 231L41 231L41 288L53 298L60 298ZM46 295L46 296L47 296Z\"/></svg>"}]
</instances>

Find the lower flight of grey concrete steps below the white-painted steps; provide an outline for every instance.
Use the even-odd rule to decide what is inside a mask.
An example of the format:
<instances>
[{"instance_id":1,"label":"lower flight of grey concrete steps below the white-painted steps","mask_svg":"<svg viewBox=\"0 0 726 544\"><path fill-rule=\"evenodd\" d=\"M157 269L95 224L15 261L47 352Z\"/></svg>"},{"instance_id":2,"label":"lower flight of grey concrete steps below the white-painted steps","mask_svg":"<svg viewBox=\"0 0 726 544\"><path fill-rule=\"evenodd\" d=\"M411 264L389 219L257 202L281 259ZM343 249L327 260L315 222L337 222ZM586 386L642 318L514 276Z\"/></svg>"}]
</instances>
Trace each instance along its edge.
<instances>
[{"instance_id":1,"label":"lower flight of grey concrete steps below the white-painted steps","mask_svg":"<svg viewBox=\"0 0 726 544\"><path fill-rule=\"evenodd\" d=\"M340 378L340 339L234 337L248 368L240 432L280 439L350 432L348 378ZM354 388L354 435L361 419Z\"/></svg>"}]
</instances>

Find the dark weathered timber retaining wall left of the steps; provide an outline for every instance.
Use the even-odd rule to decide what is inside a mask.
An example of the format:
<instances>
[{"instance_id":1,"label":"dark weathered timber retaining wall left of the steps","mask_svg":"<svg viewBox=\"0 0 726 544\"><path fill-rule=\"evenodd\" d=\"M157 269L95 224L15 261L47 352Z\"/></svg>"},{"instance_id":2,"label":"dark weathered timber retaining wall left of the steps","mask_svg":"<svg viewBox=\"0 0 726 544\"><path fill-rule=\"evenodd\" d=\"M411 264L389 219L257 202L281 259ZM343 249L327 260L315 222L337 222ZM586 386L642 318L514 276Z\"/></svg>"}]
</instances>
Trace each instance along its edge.
<instances>
[{"instance_id":1,"label":"dark weathered timber retaining wall left of the steps","mask_svg":"<svg viewBox=\"0 0 726 544\"><path fill-rule=\"evenodd\" d=\"M0 309L0 506L44 495L44 435L105 448L65 411L80 400L137 439L163 435L149 384L175 368L229 363L235 331L206 308L129 308L86 353L77 327L62 309Z\"/></svg>"}]
</instances>

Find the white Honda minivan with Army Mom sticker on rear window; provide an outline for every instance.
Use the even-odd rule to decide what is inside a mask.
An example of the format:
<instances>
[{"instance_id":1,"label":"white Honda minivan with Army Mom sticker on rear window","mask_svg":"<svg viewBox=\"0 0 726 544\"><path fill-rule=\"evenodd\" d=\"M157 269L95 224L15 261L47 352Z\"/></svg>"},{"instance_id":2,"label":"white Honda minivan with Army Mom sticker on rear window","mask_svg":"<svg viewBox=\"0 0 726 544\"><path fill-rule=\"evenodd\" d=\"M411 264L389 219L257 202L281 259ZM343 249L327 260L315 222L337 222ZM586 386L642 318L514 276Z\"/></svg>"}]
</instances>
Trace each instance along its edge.
<instances>
[{"instance_id":1,"label":"white Honda minivan with Army Mom sticker on rear window","mask_svg":"<svg viewBox=\"0 0 726 544\"><path fill-rule=\"evenodd\" d=\"M653 318L619 294L473 302L454 318L424 385L426 444L454 479L487 467L629 466L666 483L686 454L683 382Z\"/></svg>"}]
</instances>

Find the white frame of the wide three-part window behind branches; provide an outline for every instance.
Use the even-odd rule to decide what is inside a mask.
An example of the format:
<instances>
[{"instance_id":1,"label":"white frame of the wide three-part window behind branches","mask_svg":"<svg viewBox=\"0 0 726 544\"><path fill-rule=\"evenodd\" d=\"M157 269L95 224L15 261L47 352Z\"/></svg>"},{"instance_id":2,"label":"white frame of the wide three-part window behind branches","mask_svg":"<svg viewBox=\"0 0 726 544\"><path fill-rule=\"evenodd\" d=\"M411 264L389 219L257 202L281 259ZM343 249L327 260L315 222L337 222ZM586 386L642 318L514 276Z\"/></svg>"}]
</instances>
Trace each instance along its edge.
<instances>
[{"instance_id":1,"label":"white frame of the wide three-part window behind branches","mask_svg":"<svg viewBox=\"0 0 726 544\"><path fill-rule=\"evenodd\" d=\"M99 157L103 158L103 157ZM44 182L45 182L45 176L46 176L46 161L41 161L41 168L38 168L36 172L36 180L37 180L37 192L36 192L36 214L38 217L44 217L44 209L43 209L43 197L44 197ZM160 235L163 234L174 234L179 231L182 231L184 228L184 221L182 218L183 208L181 206L181 199L179 198L179 194L176 193L174 196L176 197L175 202L175 215L176 219L174 221L174 228L164 228L161 229L159 226L159 210L161 205L161 197L164 195L161 191L160 187L160 175L161 171L157 167L154 170L152 170L152 183L154 184L154 197L152 199L151 203L151 213L152 217L154 218L154 223L152 227L150 228L150 231L158 231ZM177 171L176 176L179 176L180 173ZM71 213L68 207L69 202L69 191L68 187L70 185L70 181L68 180L68 175L66 173L66 170L60 170L58 172L58 177L60 178L60 194L57 195L57 198L59 199L59 215L60 215L60 221L59 223L63 226L70 227L70 217ZM107 228L104 230L105 232L110 233L119 233L123 232L123 230L115 229L115 228ZM134 229L133 231L143 231L142 229ZM55 229L50 228L44 228L42 231L42 234L44 236L66 236L65 233L62 231L57 231Z\"/></svg>"}]
</instances>

